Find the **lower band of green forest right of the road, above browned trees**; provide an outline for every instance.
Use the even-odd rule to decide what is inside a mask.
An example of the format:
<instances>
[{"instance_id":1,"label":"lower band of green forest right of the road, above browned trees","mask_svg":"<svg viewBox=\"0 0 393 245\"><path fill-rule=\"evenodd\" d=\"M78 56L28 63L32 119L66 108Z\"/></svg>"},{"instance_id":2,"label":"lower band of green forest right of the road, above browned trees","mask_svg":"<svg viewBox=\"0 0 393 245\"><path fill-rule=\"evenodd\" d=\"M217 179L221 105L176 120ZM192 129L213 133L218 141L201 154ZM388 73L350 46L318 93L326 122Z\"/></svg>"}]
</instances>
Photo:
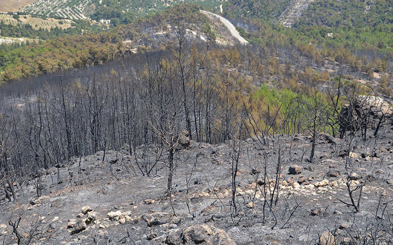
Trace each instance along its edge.
<instances>
[{"instance_id":1,"label":"lower band of green forest right of the road, above browned trees","mask_svg":"<svg viewBox=\"0 0 393 245\"><path fill-rule=\"evenodd\" d=\"M326 26L298 26L285 28L278 23L261 22L259 20L246 21L253 31L240 30L241 35L252 44L280 45L313 45L319 48L347 48L355 50L381 50L390 52L393 46L393 32L385 27L365 26L326 27Z\"/></svg>"}]
</instances>

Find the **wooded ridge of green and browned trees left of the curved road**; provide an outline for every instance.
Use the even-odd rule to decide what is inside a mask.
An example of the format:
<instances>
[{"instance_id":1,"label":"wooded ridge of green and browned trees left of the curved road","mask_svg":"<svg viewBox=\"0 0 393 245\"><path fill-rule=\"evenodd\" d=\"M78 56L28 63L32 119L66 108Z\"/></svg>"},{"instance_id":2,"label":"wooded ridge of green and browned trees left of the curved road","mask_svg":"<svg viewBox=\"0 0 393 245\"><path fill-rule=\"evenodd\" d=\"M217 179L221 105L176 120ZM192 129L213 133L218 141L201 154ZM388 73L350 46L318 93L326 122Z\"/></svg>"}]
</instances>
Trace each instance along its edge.
<instances>
[{"instance_id":1,"label":"wooded ridge of green and browned trees left of the curved road","mask_svg":"<svg viewBox=\"0 0 393 245\"><path fill-rule=\"evenodd\" d=\"M84 35L67 36L60 29L55 28L50 32L53 39L12 45L2 44L0 45L0 82L57 70L97 66L137 49L159 47L164 39L170 38L170 35L168 37L165 35L162 37L163 40L158 40L157 31L170 33L168 25L172 20L179 18L180 13L185 16L181 22L189 29L192 28L197 35L203 33L209 25L209 19L199 13L198 5L182 4L176 9L171 8L133 24L121 25L105 32L85 32ZM9 28L14 30L13 26ZM78 28L71 30L77 31ZM15 27L15 32L17 31L25 31L25 35L47 34L32 28L24 30L23 27ZM56 33L60 38L56 37ZM208 37L209 34L205 36Z\"/></svg>"}]
</instances>

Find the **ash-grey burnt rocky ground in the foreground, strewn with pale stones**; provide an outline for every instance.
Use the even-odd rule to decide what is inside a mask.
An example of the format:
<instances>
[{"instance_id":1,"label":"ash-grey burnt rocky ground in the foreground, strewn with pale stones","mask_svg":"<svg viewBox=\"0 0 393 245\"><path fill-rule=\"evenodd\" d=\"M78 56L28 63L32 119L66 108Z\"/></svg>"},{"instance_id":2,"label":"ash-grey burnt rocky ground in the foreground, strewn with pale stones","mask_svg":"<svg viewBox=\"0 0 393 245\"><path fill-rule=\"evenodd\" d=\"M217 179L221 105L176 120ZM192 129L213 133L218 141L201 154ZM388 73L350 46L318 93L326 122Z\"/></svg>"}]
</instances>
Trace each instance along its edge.
<instances>
[{"instance_id":1,"label":"ash-grey burnt rocky ground in the foreground, strewn with pale stones","mask_svg":"<svg viewBox=\"0 0 393 245\"><path fill-rule=\"evenodd\" d=\"M138 149L140 168L127 148L106 152L104 161L104 152L73 159L16 185L16 202L1 200L0 244L18 243L11 224L20 244L37 245L391 244L390 125L365 142L321 135L312 163L310 139L280 135L263 145L253 138L240 151L237 141L194 142L176 152L170 198L159 148Z\"/></svg>"}]
</instances>

